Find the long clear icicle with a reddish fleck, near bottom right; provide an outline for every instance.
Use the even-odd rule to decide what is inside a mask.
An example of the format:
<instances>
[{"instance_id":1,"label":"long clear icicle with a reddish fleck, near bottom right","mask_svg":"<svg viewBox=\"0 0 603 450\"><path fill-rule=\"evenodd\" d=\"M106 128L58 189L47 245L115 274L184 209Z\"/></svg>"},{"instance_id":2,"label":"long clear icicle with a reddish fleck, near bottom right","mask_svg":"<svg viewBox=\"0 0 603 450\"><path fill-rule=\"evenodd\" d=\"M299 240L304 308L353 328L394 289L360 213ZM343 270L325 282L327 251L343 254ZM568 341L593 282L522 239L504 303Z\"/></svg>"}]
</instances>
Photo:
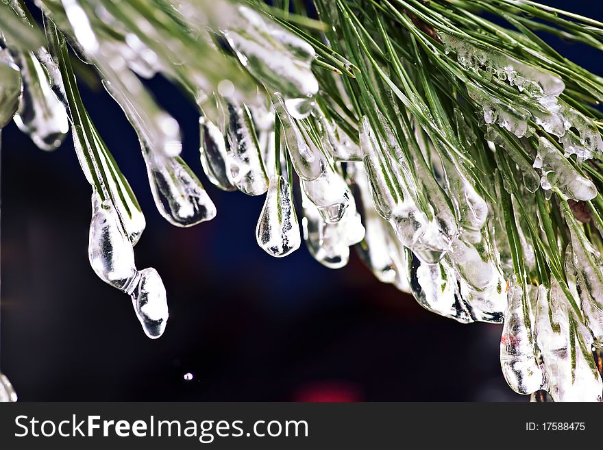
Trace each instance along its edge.
<instances>
[{"instance_id":1,"label":"long clear icicle with a reddish fleck, near bottom right","mask_svg":"<svg viewBox=\"0 0 603 450\"><path fill-rule=\"evenodd\" d=\"M515 277L508 285L508 306L500 338L500 365L506 382L518 394L532 394L545 385L532 340L528 286Z\"/></svg>"}]
</instances>

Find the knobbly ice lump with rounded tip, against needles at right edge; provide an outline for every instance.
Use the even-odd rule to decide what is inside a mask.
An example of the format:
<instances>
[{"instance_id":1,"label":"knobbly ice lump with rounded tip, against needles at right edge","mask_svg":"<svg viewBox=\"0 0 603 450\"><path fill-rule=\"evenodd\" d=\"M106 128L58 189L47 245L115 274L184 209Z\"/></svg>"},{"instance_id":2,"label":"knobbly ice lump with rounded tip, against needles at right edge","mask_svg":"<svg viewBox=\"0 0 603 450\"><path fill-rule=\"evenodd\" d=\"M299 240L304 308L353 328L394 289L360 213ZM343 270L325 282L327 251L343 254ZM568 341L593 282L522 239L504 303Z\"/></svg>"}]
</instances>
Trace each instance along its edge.
<instances>
[{"instance_id":1,"label":"knobbly ice lump with rounded tip, against needles at right edge","mask_svg":"<svg viewBox=\"0 0 603 450\"><path fill-rule=\"evenodd\" d=\"M544 190L558 188L573 200L591 200L597 197L597 188L591 180L582 177L546 138L539 139L538 154L534 168L542 173L541 187Z\"/></svg>"}]
</instances>

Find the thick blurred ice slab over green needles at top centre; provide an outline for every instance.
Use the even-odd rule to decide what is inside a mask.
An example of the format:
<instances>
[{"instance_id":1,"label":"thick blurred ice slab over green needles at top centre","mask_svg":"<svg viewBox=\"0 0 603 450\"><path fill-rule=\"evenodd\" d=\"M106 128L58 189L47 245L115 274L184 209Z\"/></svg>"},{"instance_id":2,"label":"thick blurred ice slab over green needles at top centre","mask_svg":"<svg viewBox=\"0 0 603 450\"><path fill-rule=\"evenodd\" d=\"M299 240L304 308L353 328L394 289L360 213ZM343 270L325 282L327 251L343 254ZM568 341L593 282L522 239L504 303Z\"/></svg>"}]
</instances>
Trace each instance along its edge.
<instances>
[{"instance_id":1,"label":"thick blurred ice slab over green needles at top centre","mask_svg":"<svg viewBox=\"0 0 603 450\"><path fill-rule=\"evenodd\" d=\"M311 67L314 49L246 6L238 6L236 13L223 34L241 64L271 94L281 92L291 114L307 116L309 99L319 88Z\"/></svg>"}]
</instances>

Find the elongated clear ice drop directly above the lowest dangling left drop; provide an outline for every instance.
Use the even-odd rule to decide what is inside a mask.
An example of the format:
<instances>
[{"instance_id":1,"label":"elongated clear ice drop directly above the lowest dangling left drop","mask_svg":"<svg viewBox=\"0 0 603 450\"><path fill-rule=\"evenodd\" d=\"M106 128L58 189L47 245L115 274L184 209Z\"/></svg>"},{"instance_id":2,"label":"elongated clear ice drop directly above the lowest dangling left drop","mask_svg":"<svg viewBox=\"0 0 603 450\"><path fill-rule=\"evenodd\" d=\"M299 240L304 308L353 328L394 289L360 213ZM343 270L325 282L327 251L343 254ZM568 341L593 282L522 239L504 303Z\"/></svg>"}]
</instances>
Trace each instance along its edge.
<instances>
[{"instance_id":1,"label":"elongated clear ice drop directly above the lowest dangling left drop","mask_svg":"<svg viewBox=\"0 0 603 450\"><path fill-rule=\"evenodd\" d=\"M109 201L101 202L96 190L92 195L92 221L88 240L88 258L103 282L127 290L136 275L134 250Z\"/></svg>"}]
</instances>

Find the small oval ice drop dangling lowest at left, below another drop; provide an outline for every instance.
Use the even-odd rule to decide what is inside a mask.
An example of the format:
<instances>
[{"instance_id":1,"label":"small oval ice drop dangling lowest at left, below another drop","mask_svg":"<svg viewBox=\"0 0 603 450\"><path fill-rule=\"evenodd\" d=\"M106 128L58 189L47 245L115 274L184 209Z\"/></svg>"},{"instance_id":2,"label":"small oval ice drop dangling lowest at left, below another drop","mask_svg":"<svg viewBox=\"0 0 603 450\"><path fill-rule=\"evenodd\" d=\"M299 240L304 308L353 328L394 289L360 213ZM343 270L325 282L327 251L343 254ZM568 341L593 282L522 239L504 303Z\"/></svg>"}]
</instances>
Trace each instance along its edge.
<instances>
[{"instance_id":1,"label":"small oval ice drop dangling lowest at left, below another drop","mask_svg":"<svg viewBox=\"0 0 603 450\"><path fill-rule=\"evenodd\" d=\"M165 331L169 316L161 277L154 268L143 268L136 276L136 283L132 290L136 316L149 338L159 338Z\"/></svg>"}]
</instances>

